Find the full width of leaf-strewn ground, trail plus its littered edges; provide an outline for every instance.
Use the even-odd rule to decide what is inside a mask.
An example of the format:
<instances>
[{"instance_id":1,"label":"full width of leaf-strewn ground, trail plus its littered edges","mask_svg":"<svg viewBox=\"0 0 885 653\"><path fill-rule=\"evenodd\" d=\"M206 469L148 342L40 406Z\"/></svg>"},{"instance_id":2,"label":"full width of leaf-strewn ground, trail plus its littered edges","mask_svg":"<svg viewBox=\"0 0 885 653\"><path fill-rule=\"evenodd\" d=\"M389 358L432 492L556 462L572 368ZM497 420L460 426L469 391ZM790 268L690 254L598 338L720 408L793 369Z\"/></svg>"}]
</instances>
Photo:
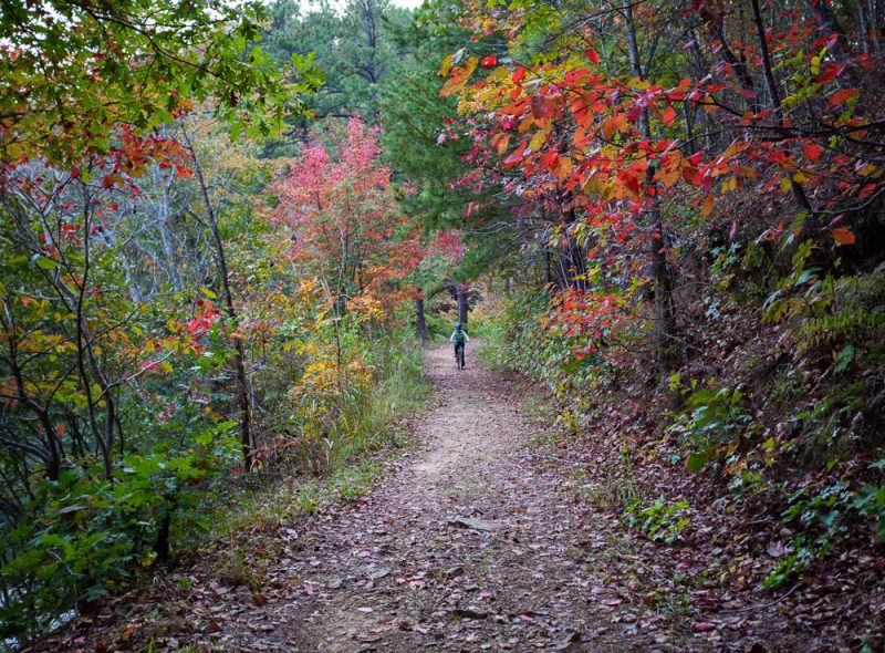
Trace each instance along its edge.
<instances>
[{"instance_id":1,"label":"full width of leaf-strewn ground, trail plus its littered edges","mask_svg":"<svg viewBox=\"0 0 885 653\"><path fill-rule=\"evenodd\" d=\"M421 449L371 496L243 536L269 553L260 589L195 561L28 651L137 651L148 636L158 652L841 650L778 601L757 611L737 588L688 591L697 551L633 537L568 468L521 455L546 427L520 407L527 388L448 354L428 353ZM806 599L825 618L825 599Z\"/></svg>"}]
</instances>

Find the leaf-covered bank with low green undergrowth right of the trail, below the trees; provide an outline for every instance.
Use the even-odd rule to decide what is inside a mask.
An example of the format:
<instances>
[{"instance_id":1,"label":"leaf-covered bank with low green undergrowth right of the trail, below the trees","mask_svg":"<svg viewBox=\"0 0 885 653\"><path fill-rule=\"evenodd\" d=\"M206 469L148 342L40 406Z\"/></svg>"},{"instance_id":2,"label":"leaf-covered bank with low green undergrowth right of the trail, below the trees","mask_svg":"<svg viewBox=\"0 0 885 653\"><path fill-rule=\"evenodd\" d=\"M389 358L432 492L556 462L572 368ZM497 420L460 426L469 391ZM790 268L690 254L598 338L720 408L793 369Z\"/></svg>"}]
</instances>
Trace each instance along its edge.
<instances>
[{"instance_id":1,"label":"leaf-covered bank with low green undergrowth right of the trail, below the trees","mask_svg":"<svg viewBox=\"0 0 885 653\"><path fill-rule=\"evenodd\" d=\"M812 301L836 307L827 317L766 324L760 303L782 278L760 270L769 255L754 248L706 249L702 284L681 299L690 354L664 387L635 334L617 364L563 365L563 339L537 326L543 291L483 304L483 360L549 393L559 429L539 455L571 470L575 495L624 537L657 543L636 557L653 570L646 600L666 588L686 611L777 609L834 647L879 650L885 269L818 289Z\"/></svg>"}]
</instances>

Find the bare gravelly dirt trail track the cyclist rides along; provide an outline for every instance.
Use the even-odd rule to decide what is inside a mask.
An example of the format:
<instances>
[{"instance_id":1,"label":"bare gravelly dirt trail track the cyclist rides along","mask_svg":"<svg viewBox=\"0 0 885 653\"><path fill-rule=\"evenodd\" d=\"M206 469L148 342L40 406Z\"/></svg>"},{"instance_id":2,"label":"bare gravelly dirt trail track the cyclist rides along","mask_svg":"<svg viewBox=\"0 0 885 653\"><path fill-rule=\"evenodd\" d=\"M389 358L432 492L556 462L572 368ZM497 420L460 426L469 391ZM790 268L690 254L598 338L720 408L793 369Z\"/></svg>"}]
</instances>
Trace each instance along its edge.
<instances>
[{"instance_id":1,"label":"bare gravelly dirt trail track the cyclist rides along","mask_svg":"<svg viewBox=\"0 0 885 653\"><path fill-rule=\"evenodd\" d=\"M531 406L475 351L464 371L448 346L428 353L421 454L353 509L312 520L282 562L289 597L218 633L226 650L649 650L596 576L605 525L524 455Z\"/></svg>"}]
</instances>

